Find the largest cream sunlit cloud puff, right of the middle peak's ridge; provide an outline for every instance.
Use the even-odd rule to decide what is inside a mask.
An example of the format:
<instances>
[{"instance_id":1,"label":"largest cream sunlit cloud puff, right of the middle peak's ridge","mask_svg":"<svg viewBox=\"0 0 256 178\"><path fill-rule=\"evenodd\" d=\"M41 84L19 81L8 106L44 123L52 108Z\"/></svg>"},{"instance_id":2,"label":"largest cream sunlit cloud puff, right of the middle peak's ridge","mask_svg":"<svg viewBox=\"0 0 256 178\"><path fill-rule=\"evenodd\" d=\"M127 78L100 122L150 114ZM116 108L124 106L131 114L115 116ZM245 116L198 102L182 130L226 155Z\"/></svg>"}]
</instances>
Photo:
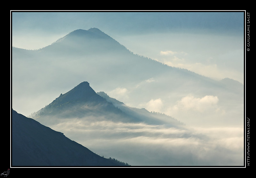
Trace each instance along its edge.
<instances>
[{"instance_id":1,"label":"largest cream sunlit cloud puff, right of the middle peak's ridge","mask_svg":"<svg viewBox=\"0 0 256 178\"><path fill-rule=\"evenodd\" d=\"M227 122L226 117L237 117L236 113L229 113L227 108L221 105L218 96L212 95L202 97L187 95L164 109L163 113L190 126L219 126ZM237 123L234 121L232 124Z\"/></svg>"}]
</instances>

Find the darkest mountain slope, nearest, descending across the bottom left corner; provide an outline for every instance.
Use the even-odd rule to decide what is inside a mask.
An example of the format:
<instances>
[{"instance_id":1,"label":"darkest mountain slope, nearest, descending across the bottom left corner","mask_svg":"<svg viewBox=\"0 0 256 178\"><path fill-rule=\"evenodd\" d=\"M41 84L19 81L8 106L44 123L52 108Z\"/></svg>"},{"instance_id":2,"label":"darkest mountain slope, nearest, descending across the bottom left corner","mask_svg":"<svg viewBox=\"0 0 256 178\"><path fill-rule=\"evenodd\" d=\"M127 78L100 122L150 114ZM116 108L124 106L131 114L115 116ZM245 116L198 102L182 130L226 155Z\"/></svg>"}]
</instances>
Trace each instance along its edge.
<instances>
[{"instance_id":1,"label":"darkest mountain slope, nearest, descending across the bottom left corner","mask_svg":"<svg viewBox=\"0 0 256 178\"><path fill-rule=\"evenodd\" d=\"M127 164L126 164L127 165ZM125 166L12 110L12 166Z\"/></svg>"}]
</instances>

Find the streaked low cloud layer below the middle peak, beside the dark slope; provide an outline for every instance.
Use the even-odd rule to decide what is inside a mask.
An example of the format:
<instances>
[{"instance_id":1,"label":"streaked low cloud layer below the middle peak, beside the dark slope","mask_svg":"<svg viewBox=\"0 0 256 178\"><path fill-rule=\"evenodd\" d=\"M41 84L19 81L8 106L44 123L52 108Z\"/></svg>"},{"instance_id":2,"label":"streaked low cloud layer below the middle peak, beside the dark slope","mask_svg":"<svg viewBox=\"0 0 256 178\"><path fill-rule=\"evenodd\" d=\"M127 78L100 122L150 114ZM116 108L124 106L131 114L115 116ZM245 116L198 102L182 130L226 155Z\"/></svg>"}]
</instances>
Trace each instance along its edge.
<instances>
[{"instance_id":1,"label":"streaked low cloud layer below the middle peak, beside the dark slope","mask_svg":"<svg viewBox=\"0 0 256 178\"><path fill-rule=\"evenodd\" d=\"M68 119L51 128L100 156L132 166L243 165L243 128L169 128L89 120Z\"/></svg>"}]
</instances>

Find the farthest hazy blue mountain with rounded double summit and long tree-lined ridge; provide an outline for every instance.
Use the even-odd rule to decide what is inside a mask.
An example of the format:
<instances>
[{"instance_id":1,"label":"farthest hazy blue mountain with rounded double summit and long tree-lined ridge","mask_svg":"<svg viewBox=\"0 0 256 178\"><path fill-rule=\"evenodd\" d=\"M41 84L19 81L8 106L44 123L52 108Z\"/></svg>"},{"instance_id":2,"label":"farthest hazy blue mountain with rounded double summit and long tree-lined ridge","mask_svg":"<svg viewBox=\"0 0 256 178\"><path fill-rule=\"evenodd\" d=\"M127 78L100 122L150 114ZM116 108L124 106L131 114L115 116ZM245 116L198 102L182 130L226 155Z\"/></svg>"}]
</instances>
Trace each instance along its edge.
<instances>
[{"instance_id":1,"label":"farthest hazy blue mountain with rounded double summit and long tree-lined ridge","mask_svg":"<svg viewBox=\"0 0 256 178\"><path fill-rule=\"evenodd\" d=\"M189 91L199 94L205 92L205 89L211 93L218 93L223 87L221 82L187 69L170 67L148 57L135 55L97 28L75 30L52 45L37 51L27 51L28 53L20 53L20 51L21 49L12 47L14 63L17 59L22 59L22 62L33 61L40 65L42 62L45 66L43 71L48 69L50 74L58 71L58 68L68 74L72 74L71 72L76 74L79 71L79 74L85 75L86 78L89 77L87 80L108 88L109 85L112 86L113 82L124 86L125 83L138 85L150 78L155 81L162 78L163 81L157 83L157 89L173 90L179 87L182 91L187 91L184 88L197 85L196 88L190 87ZM64 65L65 63L67 65ZM54 67L53 71L51 71L52 67ZM76 72L73 71L74 69ZM211 89L211 87L215 88ZM148 88L148 91L151 92L151 89Z\"/></svg>"}]
</instances>

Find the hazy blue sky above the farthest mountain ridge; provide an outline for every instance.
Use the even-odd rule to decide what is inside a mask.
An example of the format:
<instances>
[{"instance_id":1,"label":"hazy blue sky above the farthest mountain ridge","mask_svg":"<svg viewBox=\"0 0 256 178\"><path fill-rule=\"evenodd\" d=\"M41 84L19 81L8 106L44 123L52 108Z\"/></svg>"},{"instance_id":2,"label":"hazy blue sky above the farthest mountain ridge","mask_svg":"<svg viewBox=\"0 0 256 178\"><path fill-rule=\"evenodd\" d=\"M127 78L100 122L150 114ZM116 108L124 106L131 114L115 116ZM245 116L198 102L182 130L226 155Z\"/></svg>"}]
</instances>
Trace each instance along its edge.
<instances>
[{"instance_id":1,"label":"hazy blue sky above the farthest mountain ridge","mask_svg":"<svg viewBox=\"0 0 256 178\"><path fill-rule=\"evenodd\" d=\"M244 83L244 12L12 12L12 46L39 49L99 28L132 52Z\"/></svg>"}]
</instances>

